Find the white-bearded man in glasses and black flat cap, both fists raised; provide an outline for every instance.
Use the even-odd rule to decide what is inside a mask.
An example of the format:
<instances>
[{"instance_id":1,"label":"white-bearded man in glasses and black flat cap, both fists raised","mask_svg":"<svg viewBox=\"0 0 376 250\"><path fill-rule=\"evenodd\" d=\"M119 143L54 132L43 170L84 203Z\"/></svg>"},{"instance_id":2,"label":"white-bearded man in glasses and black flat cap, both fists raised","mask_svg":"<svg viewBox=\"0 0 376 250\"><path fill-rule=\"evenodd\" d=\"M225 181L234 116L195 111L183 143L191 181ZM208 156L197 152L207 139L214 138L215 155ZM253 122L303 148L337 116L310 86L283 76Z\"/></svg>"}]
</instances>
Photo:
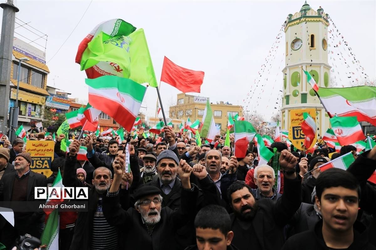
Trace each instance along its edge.
<instances>
[{"instance_id":1,"label":"white-bearded man in glasses and black flat cap, both fists raised","mask_svg":"<svg viewBox=\"0 0 376 250\"><path fill-rule=\"evenodd\" d=\"M168 165L170 162L166 163ZM120 229L124 249L176 250L177 242L173 235L195 216L199 189L190 183L192 167L184 160L180 160L176 166L182 185L178 209L172 210L167 206L162 208L161 189L153 185L144 185L135 190L135 206L127 211L121 208L118 195L125 169L124 154L117 156L113 167L114 180L104 199L103 213L112 226Z\"/></svg>"}]
</instances>

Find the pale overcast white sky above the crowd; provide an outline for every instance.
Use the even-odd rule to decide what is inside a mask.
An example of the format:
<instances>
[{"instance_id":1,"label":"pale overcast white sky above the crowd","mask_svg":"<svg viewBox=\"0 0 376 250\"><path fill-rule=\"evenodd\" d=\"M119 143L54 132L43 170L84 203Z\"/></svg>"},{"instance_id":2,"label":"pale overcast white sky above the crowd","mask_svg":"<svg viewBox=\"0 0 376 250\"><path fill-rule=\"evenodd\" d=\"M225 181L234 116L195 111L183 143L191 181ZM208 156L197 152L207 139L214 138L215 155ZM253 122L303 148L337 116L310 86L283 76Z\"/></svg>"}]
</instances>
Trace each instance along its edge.
<instances>
[{"instance_id":1,"label":"pale overcast white sky above the crowd","mask_svg":"<svg viewBox=\"0 0 376 250\"><path fill-rule=\"evenodd\" d=\"M180 66L205 72L201 93L194 95L209 97L214 103L228 101L246 106L248 101L244 104L243 100L250 90L255 89L252 84L281 25L288 14L300 10L304 1L92 1L90 6L89 3L67 0L15 1L20 9L16 17L30 22L31 26L48 35L48 85L53 86L55 79L55 87L72 93L72 98L87 100L86 74L74 63L77 47L98 23L121 18L145 30L158 80L163 58L167 56ZM330 15L365 72L374 79L375 1L310 0L308 4L315 10L321 6ZM77 28L52 58L86 8L88 10ZM15 31L29 39L36 39L34 34L22 27ZM15 36L27 41L17 34ZM284 39L282 36L282 41ZM44 45L42 39L39 41ZM275 52L270 74L264 74L261 78L265 84L256 92L261 98L253 98L247 108L263 113L266 119L276 112L274 104L282 89L280 71L285 66L283 53L284 43L281 42L279 50ZM345 78L342 77L343 85L347 86L349 83ZM171 99L176 101L177 93L177 89L162 83L161 96L166 113ZM149 87L143 102L147 109L141 108L140 111L147 116L154 116L156 99L156 90Z\"/></svg>"}]
</instances>

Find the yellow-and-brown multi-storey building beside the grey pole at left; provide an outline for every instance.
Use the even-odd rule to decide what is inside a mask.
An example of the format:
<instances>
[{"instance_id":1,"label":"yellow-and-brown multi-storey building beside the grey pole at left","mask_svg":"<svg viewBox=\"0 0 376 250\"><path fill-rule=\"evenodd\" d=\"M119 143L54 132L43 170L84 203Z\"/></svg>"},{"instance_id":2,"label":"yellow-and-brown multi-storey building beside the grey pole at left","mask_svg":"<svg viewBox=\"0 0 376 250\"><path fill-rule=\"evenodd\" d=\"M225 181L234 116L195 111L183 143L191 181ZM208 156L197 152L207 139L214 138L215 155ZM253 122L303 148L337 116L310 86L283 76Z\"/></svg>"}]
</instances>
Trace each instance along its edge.
<instances>
[{"instance_id":1,"label":"yellow-and-brown multi-storey building beside the grey pole at left","mask_svg":"<svg viewBox=\"0 0 376 250\"><path fill-rule=\"evenodd\" d=\"M23 125L28 130L32 124L41 122L47 92L47 75L50 73L45 64L45 53L26 42L14 38L11 66L11 93L9 107L14 107L18 90L18 126ZM20 58L27 57L29 61L20 62ZM20 64L21 63L21 64ZM18 67L20 75L18 77ZM9 110L8 110L9 113Z\"/></svg>"}]
</instances>

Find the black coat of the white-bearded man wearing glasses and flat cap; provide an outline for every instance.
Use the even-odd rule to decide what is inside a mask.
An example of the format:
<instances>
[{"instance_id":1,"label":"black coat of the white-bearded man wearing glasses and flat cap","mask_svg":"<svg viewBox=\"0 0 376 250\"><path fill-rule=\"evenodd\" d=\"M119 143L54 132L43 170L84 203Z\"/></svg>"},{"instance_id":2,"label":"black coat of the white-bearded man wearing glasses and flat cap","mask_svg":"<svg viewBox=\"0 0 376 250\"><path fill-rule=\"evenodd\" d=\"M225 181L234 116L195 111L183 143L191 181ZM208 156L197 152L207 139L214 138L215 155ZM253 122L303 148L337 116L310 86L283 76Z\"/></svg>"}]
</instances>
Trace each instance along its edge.
<instances>
[{"instance_id":1,"label":"black coat of the white-bearded man wearing glasses and flat cap","mask_svg":"<svg viewBox=\"0 0 376 250\"><path fill-rule=\"evenodd\" d=\"M161 209L161 220L153 228L150 235L140 213L135 208L127 211L119 204L119 195L104 197L103 214L112 226L120 228L119 237L124 248L120 249L153 249L176 250L177 239L174 237L176 230L194 219L195 205L199 189L194 186L193 191L181 191L181 205L178 209L165 206Z\"/></svg>"}]
</instances>

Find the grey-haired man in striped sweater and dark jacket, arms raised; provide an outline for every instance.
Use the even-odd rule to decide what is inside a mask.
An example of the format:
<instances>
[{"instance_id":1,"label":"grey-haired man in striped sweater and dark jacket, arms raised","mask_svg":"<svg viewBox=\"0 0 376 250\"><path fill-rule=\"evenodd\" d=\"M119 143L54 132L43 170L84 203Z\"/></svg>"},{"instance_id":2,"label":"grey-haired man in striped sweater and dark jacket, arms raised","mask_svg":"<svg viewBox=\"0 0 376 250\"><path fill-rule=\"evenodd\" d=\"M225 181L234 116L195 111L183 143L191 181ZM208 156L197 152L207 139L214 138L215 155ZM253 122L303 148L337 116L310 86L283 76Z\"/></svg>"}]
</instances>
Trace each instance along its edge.
<instances>
[{"instance_id":1,"label":"grey-haired man in striped sweater and dark jacket, arms raised","mask_svg":"<svg viewBox=\"0 0 376 250\"><path fill-rule=\"evenodd\" d=\"M69 145L65 160L63 185L65 187L86 187L77 179L77 152L80 142L74 140ZM132 147L130 150L130 169L134 182L139 182L138 157ZM97 167L93 172L92 185L88 193L88 211L79 212L70 250L79 249L124 249L119 229L109 224L103 215L103 196L112 183L112 173L107 167Z\"/></svg>"}]
</instances>

